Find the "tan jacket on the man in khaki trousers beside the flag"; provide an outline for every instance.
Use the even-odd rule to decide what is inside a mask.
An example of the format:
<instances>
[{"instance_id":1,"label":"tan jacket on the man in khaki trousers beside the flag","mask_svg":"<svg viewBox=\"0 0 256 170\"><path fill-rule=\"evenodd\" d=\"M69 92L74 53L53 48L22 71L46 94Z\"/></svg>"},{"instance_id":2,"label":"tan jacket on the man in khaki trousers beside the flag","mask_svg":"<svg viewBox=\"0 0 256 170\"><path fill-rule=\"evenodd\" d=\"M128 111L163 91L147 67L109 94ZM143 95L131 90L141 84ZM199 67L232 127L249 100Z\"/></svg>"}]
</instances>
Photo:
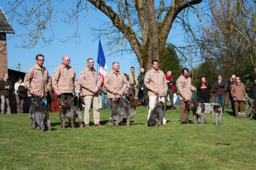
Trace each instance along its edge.
<instances>
[{"instance_id":1,"label":"tan jacket on the man in khaki trousers beside the flag","mask_svg":"<svg viewBox=\"0 0 256 170\"><path fill-rule=\"evenodd\" d=\"M80 72L80 85L82 86L82 94L83 96L86 95L94 95L93 92L91 92L95 87L98 89L101 87L101 76L97 76L97 85L96 85L96 70L91 70L89 67L86 67ZM99 91L97 92L99 94Z\"/></svg>"}]
</instances>

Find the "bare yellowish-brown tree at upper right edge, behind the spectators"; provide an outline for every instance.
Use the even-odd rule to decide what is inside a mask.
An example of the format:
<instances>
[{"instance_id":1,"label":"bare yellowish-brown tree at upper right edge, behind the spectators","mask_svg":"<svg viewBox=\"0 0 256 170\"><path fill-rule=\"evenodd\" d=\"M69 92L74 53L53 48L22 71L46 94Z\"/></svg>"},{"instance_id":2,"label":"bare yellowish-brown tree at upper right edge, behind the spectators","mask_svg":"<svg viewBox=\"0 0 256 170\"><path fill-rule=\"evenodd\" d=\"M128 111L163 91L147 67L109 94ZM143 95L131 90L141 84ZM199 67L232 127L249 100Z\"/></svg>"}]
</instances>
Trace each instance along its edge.
<instances>
[{"instance_id":1,"label":"bare yellowish-brown tree at upper right edge, behind the spectators","mask_svg":"<svg viewBox=\"0 0 256 170\"><path fill-rule=\"evenodd\" d=\"M256 77L256 1L209 0L211 18L201 29L202 57L216 59L225 77Z\"/></svg>"}]
</instances>

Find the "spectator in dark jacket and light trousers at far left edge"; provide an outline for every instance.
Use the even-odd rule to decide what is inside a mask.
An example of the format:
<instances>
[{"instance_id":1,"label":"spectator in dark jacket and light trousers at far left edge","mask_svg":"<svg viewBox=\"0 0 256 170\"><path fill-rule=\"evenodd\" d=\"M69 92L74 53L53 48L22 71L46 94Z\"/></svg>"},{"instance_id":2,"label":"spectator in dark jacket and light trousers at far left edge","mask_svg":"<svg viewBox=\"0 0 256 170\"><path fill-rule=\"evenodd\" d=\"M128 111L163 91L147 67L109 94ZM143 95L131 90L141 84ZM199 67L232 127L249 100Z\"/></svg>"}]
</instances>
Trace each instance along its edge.
<instances>
[{"instance_id":1,"label":"spectator in dark jacket and light trousers at far left edge","mask_svg":"<svg viewBox=\"0 0 256 170\"><path fill-rule=\"evenodd\" d=\"M4 78L0 80L1 114L6 113L7 107L9 106L9 96L10 91L12 90L12 83L8 78L8 74L4 74ZM5 107L5 102L7 107Z\"/></svg>"}]
</instances>

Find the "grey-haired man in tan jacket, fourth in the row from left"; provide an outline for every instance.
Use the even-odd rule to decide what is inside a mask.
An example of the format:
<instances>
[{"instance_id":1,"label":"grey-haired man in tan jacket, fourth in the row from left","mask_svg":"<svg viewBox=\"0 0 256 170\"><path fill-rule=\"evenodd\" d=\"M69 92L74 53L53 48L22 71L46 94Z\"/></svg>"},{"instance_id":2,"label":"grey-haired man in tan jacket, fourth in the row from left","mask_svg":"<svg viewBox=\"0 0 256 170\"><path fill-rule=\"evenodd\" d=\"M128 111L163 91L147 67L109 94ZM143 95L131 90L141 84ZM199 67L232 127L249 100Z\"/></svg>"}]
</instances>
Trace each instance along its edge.
<instances>
[{"instance_id":1,"label":"grey-haired man in tan jacket, fourth in the row from left","mask_svg":"<svg viewBox=\"0 0 256 170\"><path fill-rule=\"evenodd\" d=\"M119 63L112 63L112 70L104 78L104 86L107 88L107 97L110 99L112 114L116 113L117 103L120 108L126 107L123 94L128 83L124 74L118 70Z\"/></svg>"}]
</instances>

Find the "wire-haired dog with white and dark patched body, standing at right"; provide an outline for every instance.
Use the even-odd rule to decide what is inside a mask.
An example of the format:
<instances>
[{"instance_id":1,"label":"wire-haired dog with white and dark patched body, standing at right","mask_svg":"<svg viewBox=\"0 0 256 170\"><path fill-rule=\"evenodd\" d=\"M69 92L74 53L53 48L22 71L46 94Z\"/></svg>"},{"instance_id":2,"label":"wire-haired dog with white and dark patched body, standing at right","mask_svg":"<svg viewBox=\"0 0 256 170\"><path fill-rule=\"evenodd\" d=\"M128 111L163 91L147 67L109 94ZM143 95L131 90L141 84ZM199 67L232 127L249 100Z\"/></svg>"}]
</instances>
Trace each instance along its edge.
<instances>
[{"instance_id":1,"label":"wire-haired dog with white and dark patched body, standing at right","mask_svg":"<svg viewBox=\"0 0 256 170\"><path fill-rule=\"evenodd\" d=\"M216 125L219 125L219 120L221 121L221 125L223 124L223 120L221 117L222 108L218 103L198 103L195 98L191 98L188 100L188 108L193 113L193 124L197 124L198 122L201 124L205 123L204 116L206 114L212 113L213 117L216 120Z\"/></svg>"}]
</instances>

